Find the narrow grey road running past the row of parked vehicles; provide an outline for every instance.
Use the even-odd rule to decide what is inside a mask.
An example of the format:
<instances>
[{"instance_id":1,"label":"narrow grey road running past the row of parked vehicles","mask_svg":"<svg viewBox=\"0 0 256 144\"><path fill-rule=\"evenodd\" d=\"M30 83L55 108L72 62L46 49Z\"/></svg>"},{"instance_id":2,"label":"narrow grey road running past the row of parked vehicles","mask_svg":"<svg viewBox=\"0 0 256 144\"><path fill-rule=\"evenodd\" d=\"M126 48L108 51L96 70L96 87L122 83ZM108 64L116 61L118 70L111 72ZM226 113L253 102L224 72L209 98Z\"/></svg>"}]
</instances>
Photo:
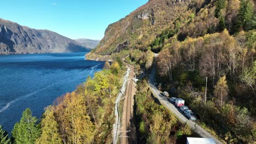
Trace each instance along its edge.
<instances>
[{"instance_id":1,"label":"narrow grey road running past the row of parked vehicles","mask_svg":"<svg viewBox=\"0 0 256 144\"><path fill-rule=\"evenodd\" d=\"M162 105L165 105L169 110L171 110L181 122L187 123L191 129L193 129L197 134L199 134L201 137L204 138L212 138L216 143L222 143L220 142L216 137L212 136L210 133L208 133L205 129L197 125L195 122L190 121L187 119L179 110L171 104L166 97L164 97L161 93L161 91L158 90L158 88L154 85L154 76L155 76L155 67L152 70L152 73L149 76L149 88L150 91L154 94L156 98L160 101Z\"/></svg>"}]
</instances>

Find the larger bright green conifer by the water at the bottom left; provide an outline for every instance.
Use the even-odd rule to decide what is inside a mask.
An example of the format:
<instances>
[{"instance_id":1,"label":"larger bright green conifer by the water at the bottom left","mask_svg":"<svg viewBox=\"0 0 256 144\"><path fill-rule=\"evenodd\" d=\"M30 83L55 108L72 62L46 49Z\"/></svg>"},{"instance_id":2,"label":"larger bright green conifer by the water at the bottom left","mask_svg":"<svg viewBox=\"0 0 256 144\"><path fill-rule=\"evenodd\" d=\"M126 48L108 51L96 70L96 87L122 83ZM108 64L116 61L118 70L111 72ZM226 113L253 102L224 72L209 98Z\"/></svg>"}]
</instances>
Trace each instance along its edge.
<instances>
[{"instance_id":1,"label":"larger bright green conifer by the water at the bottom left","mask_svg":"<svg viewBox=\"0 0 256 144\"><path fill-rule=\"evenodd\" d=\"M32 116L32 112L27 108L20 119L20 122L14 125L11 135L17 144L32 144L39 137L40 129L37 124L37 118Z\"/></svg>"}]
</instances>

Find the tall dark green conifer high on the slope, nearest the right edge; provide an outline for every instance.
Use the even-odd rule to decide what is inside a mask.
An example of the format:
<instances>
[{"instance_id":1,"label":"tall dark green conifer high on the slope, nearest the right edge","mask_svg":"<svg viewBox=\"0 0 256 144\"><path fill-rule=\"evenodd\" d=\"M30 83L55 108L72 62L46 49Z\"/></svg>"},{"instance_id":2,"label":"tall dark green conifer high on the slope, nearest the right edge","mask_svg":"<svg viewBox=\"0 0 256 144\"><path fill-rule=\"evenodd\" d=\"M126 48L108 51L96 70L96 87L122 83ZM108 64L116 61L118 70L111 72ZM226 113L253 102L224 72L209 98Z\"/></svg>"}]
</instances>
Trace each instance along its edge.
<instances>
[{"instance_id":1,"label":"tall dark green conifer high on the slope, nearest the right edge","mask_svg":"<svg viewBox=\"0 0 256 144\"><path fill-rule=\"evenodd\" d=\"M253 3L251 0L242 0L237 15L236 31L239 31L241 28L248 31L250 28L254 27L252 26L253 13Z\"/></svg>"}]
</instances>

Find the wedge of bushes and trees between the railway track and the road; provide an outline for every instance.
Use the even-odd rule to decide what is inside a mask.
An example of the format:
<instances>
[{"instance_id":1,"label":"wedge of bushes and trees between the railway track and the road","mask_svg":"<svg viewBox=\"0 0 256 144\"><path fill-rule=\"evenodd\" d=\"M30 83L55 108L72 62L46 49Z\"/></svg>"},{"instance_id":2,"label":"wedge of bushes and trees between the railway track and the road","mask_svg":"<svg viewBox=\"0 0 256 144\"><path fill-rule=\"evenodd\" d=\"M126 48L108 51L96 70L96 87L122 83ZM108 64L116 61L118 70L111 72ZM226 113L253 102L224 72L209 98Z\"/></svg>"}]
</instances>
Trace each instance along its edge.
<instances>
[{"instance_id":1,"label":"wedge of bushes and trees between the railway track and the road","mask_svg":"<svg viewBox=\"0 0 256 144\"><path fill-rule=\"evenodd\" d=\"M154 98L146 79L138 82L138 89L135 95L138 143L186 143L187 137L197 137L188 125L179 122Z\"/></svg>"}]
</instances>

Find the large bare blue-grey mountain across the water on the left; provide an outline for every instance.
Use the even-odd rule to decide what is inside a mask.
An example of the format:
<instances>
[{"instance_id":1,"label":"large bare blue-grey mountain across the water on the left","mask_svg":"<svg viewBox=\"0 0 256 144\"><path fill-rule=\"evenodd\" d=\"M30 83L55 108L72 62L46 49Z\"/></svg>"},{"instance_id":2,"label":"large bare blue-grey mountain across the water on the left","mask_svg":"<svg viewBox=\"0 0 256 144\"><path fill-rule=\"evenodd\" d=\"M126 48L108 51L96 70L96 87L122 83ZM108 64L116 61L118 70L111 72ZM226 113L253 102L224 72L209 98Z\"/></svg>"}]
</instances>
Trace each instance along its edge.
<instances>
[{"instance_id":1,"label":"large bare blue-grey mountain across the water on the left","mask_svg":"<svg viewBox=\"0 0 256 144\"><path fill-rule=\"evenodd\" d=\"M89 47L55 32L0 19L0 54L89 51Z\"/></svg>"}]
</instances>

